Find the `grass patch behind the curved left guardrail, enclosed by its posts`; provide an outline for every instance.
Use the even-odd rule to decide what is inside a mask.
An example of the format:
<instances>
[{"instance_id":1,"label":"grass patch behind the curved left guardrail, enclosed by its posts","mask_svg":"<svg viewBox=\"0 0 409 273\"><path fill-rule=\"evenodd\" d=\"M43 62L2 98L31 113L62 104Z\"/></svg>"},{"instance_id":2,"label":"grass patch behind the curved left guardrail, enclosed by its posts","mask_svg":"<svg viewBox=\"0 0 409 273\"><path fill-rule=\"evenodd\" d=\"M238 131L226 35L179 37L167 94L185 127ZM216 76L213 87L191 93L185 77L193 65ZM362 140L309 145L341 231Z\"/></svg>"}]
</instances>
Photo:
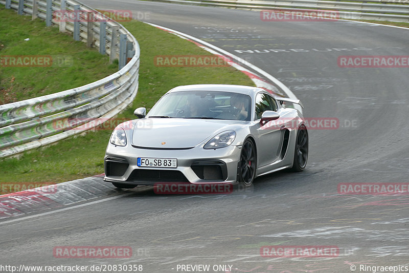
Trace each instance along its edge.
<instances>
[{"instance_id":1,"label":"grass patch behind the curved left guardrail, enclosed by its posts","mask_svg":"<svg viewBox=\"0 0 409 273\"><path fill-rule=\"evenodd\" d=\"M19 16L0 5L0 57L20 55L51 56L48 67L5 67L0 65L0 104L48 95L86 85L118 70L107 55L72 34L46 27L40 19ZM25 41L26 38L30 40ZM4 62L3 62L4 64Z\"/></svg>"}]
</instances>

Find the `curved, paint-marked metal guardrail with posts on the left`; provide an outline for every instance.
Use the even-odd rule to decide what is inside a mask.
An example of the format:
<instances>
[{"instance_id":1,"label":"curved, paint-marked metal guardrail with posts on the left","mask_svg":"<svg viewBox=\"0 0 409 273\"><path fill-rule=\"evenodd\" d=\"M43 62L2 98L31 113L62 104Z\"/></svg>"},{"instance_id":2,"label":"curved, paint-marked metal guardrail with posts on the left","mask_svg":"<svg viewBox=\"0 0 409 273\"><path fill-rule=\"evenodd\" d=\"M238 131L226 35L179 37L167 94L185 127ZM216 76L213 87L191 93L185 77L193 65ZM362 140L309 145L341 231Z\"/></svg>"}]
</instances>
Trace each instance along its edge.
<instances>
[{"instance_id":1,"label":"curved, paint-marked metal guardrail with posts on the left","mask_svg":"<svg viewBox=\"0 0 409 273\"><path fill-rule=\"evenodd\" d=\"M119 59L120 68L82 87L1 105L0 158L97 127L133 101L138 91L140 48L121 24L76 0L0 0L0 4L17 10L18 14L42 18L47 26L59 25L61 32L72 32L74 39L89 47L96 46L110 60ZM57 22L53 12L58 10L98 14L106 20Z\"/></svg>"}]
</instances>

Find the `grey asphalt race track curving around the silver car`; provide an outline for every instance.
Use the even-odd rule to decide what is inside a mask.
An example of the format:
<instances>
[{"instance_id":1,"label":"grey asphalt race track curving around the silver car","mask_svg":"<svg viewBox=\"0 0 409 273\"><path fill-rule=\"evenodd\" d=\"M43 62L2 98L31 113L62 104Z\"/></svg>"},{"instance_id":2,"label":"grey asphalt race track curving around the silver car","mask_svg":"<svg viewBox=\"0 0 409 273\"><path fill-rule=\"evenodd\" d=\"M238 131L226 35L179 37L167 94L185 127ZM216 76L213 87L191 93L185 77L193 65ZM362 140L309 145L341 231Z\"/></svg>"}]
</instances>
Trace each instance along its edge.
<instances>
[{"instance_id":1,"label":"grey asphalt race track curving around the silver car","mask_svg":"<svg viewBox=\"0 0 409 273\"><path fill-rule=\"evenodd\" d=\"M409 29L343 20L264 22L257 11L133 0L84 3L131 10L134 17L149 14L141 19L244 58L290 88L306 117L339 123L309 130L304 172L259 177L232 194L159 196L152 187L119 192L107 184L103 194L72 209L2 219L1 264L132 264L149 273L192 269L182 265L210 265L192 272L229 272L232 266L230 272L254 273L409 265L408 193L338 194L339 183L409 183L409 68L337 62L344 55L407 56ZM260 255L261 246L275 245L336 246L339 254ZM128 246L132 257L55 258L58 246Z\"/></svg>"}]
</instances>

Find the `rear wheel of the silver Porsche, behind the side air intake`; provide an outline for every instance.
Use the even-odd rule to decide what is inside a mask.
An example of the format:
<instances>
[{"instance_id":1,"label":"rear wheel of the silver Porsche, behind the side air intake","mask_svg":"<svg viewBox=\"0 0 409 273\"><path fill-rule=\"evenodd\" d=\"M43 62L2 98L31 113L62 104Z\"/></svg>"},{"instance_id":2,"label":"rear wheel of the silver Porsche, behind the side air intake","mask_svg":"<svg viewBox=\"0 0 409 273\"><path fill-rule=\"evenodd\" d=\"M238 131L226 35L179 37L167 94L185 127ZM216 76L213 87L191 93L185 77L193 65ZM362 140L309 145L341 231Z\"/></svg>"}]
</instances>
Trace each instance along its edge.
<instances>
[{"instance_id":1,"label":"rear wheel of the silver Porsche, behind the side air intake","mask_svg":"<svg viewBox=\"0 0 409 273\"><path fill-rule=\"evenodd\" d=\"M292 172L302 172L308 160L308 132L305 125L301 125L297 132L296 147L294 149Z\"/></svg>"}]
</instances>

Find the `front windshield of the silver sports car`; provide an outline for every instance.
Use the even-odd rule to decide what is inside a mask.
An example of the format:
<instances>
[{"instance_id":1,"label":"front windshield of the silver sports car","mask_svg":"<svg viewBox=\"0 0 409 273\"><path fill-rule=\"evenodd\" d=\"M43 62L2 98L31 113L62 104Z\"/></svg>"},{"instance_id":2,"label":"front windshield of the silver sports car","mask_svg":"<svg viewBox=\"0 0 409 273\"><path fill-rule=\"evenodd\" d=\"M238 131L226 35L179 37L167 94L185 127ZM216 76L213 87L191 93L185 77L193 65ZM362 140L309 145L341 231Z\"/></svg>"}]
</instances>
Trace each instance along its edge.
<instances>
[{"instance_id":1,"label":"front windshield of the silver sports car","mask_svg":"<svg viewBox=\"0 0 409 273\"><path fill-rule=\"evenodd\" d=\"M161 98L147 117L250 120L251 97L221 91L180 91Z\"/></svg>"}]
</instances>

